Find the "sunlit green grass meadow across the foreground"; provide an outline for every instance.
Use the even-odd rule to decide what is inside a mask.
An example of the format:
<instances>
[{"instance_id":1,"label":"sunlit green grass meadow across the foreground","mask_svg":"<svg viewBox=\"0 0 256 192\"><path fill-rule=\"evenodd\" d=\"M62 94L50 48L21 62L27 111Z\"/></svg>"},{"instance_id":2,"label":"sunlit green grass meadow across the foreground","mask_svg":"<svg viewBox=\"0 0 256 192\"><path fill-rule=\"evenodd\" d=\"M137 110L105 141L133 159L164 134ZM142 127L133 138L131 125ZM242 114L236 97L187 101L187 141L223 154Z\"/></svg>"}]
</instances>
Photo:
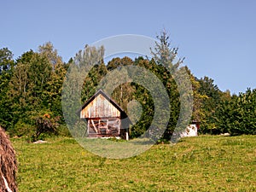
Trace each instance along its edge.
<instances>
[{"instance_id":1,"label":"sunlit green grass meadow across the foreground","mask_svg":"<svg viewBox=\"0 0 256 192\"><path fill-rule=\"evenodd\" d=\"M12 139L19 191L256 191L256 136L190 137L129 159L90 154L73 138Z\"/></svg>"}]
</instances>

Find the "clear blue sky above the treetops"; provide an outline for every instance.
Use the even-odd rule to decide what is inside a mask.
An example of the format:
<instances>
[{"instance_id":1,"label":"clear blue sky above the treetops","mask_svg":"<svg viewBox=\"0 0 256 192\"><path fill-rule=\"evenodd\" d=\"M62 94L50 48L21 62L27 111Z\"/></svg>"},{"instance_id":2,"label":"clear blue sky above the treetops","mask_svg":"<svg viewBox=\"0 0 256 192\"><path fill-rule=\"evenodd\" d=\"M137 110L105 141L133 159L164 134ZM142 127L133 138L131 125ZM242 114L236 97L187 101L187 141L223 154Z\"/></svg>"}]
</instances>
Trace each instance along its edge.
<instances>
[{"instance_id":1,"label":"clear blue sky above the treetops","mask_svg":"<svg viewBox=\"0 0 256 192\"><path fill-rule=\"evenodd\" d=\"M163 28L197 78L231 93L256 88L254 0L1 0L0 48L15 58L50 41L68 61L85 44Z\"/></svg>"}]
</instances>

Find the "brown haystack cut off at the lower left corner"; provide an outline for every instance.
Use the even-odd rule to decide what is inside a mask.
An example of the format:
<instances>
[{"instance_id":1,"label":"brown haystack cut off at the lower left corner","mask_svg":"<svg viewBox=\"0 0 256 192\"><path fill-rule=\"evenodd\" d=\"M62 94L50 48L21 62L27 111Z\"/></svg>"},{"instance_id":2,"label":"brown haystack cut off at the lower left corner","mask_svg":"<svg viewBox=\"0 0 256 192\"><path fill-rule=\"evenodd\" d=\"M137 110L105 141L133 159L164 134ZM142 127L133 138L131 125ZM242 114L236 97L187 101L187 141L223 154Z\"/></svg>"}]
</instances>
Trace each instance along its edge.
<instances>
[{"instance_id":1,"label":"brown haystack cut off at the lower left corner","mask_svg":"<svg viewBox=\"0 0 256 192\"><path fill-rule=\"evenodd\" d=\"M16 172L15 149L9 141L9 137L0 126L0 191L18 191L15 180Z\"/></svg>"}]
</instances>

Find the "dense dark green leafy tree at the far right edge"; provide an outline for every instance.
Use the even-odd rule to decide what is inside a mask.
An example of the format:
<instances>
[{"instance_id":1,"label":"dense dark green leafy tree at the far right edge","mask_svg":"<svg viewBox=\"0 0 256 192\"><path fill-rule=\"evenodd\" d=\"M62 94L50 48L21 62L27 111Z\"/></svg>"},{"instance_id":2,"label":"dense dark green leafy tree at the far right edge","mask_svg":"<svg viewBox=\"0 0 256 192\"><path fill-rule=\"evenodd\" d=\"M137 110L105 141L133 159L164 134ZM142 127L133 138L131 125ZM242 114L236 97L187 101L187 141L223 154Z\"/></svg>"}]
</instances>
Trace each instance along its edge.
<instances>
[{"instance_id":1,"label":"dense dark green leafy tree at the far right edge","mask_svg":"<svg viewBox=\"0 0 256 192\"><path fill-rule=\"evenodd\" d=\"M217 127L231 135L256 134L256 90L231 96L218 106Z\"/></svg>"}]
</instances>

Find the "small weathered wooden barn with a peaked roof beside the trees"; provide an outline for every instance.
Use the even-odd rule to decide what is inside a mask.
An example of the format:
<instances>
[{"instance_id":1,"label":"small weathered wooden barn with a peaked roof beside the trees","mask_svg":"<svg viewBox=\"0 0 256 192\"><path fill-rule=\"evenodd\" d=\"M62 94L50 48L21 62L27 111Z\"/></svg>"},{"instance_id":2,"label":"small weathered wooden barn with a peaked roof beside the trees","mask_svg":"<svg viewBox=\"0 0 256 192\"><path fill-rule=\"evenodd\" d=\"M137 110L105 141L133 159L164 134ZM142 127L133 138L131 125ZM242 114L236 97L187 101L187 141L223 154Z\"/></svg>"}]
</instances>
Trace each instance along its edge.
<instances>
[{"instance_id":1,"label":"small weathered wooden barn with a peaked roof beside the trees","mask_svg":"<svg viewBox=\"0 0 256 192\"><path fill-rule=\"evenodd\" d=\"M130 120L125 111L102 90L98 90L79 109L80 119L87 121L88 137L122 137L129 139Z\"/></svg>"}]
</instances>

